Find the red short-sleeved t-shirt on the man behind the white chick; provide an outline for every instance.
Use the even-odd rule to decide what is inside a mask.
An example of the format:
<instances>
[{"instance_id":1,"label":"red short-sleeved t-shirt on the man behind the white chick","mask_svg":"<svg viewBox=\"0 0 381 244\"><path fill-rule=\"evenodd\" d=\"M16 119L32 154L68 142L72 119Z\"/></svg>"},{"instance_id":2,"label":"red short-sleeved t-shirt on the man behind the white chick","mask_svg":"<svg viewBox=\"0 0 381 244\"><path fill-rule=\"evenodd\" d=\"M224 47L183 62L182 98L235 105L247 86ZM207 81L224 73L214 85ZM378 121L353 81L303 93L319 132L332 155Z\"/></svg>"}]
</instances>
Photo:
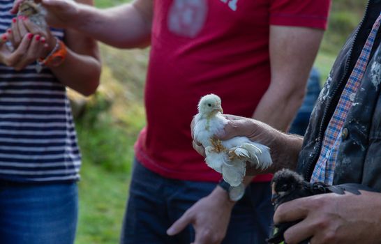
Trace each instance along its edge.
<instances>
[{"instance_id":1,"label":"red short-sleeved t-shirt on the man behind the white chick","mask_svg":"<svg viewBox=\"0 0 381 244\"><path fill-rule=\"evenodd\" d=\"M156 0L145 89L142 165L167 178L217 182L192 147L190 125L208 93L225 114L251 117L270 83L269 25L325 29L330 0ZM271 175L255 181L270 181Z\"/></svg>"}]
</instances>

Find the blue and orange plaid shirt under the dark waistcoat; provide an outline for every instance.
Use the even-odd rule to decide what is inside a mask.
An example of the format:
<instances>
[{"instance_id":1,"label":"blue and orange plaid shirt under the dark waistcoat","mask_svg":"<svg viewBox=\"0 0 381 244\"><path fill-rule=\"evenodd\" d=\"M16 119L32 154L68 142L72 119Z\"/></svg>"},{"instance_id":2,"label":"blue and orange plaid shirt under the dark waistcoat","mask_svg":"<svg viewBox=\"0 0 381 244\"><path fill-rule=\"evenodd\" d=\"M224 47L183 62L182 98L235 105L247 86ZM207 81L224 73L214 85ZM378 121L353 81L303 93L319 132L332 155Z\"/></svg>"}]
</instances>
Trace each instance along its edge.
<instances>
[{"instance_id":1,"label":"blue and orange plaid shirt under the dark waistcoat","mask_svg":"<svg viewBox=\"0 0 381 244\"><path fill-rule=\"evenodd\" d=\"M341 93L341 97L338 101L334 115L331 117L327 130L324 133L322 150L313 171L311 182L320 181L331 185L334 181L334 170L336 167L338 147L341 143L343 124L347 118L350 108L352 107L352 101L357 90L359 89L361 79L366 71L366 66L371 56L375 36L378 33L378 29L380 29L380 24L381 13L375 21L375 24L373 24L373 29L366 40L359 59L357 59L357 63L352 70L343 93Z\"/></svg>"}]
</instances>

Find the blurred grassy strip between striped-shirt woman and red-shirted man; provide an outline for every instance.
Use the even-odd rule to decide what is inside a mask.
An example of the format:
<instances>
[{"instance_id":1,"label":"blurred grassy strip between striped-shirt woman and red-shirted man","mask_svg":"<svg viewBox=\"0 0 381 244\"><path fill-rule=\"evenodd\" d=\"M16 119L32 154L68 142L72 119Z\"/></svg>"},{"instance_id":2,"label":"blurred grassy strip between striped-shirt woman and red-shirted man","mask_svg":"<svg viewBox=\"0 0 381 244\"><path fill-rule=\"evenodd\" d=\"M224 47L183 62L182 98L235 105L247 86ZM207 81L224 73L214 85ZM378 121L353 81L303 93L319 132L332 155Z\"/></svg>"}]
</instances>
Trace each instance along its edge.
<instances>
[{"instance_id":1,"label":"blurred grassy strip between striped-shirt woman and red-shirted man","mask_svg":"<svg viewBox=\"0 0 381 244\"><path fill-rule=\"evenodd\" d=\"M144 126L147 50L101 45L101 85L76 120L83 155L76 244L118 243L133 160Z\"/></svg>"}]
</instances>

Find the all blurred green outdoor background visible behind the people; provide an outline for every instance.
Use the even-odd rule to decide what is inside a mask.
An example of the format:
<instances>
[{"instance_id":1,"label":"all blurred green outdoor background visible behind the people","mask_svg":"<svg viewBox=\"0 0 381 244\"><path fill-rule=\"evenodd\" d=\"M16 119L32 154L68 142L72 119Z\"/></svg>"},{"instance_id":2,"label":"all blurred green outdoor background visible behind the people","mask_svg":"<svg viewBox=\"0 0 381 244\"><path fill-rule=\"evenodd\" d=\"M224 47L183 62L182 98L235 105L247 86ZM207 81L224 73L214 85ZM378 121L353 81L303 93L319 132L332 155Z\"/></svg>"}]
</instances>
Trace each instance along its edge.
<instances>
[{"instance_id":1,"label":"all blurred green outdoor background visible behind the people","mask_svg":"<svg viewBox=\"0 0 381 244\"><path fill-rule=\"evenodd\" d=\"M107 8L128 0L95 0ZM366 0L332 0L329 29L315 67L324 83ZM143 87L149 49L119 50L100 45L101 85L83 98L70 91L83 165L77 244L116 244L128 195L133 143L144 126ZM149 180L149 179L147 179Z\"/></svg>"}]
</instances>

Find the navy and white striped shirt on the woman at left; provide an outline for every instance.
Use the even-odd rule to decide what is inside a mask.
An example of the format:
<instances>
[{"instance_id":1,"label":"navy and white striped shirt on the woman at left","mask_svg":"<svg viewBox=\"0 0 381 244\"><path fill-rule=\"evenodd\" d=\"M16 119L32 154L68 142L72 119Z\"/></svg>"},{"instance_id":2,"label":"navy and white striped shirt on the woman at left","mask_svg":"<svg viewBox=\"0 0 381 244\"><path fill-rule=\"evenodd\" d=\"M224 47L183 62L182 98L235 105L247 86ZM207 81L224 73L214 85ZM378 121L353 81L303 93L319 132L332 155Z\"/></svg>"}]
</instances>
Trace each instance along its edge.
<instances>
[{"instance_id":1,"label":"navy and white striped shirt on the woman at left","mask_svg":"<svg viewBox=\"0 0 381 244\"><path fill-rule=\"evenodd\" d=\"M0 0L0 33L14 15ZM64 33L52 29L61 40ZM66 88L36 64L20 72L0 64L0 180L59 182L79 179L77 136Z\"/></svg>"}]
</instances>

